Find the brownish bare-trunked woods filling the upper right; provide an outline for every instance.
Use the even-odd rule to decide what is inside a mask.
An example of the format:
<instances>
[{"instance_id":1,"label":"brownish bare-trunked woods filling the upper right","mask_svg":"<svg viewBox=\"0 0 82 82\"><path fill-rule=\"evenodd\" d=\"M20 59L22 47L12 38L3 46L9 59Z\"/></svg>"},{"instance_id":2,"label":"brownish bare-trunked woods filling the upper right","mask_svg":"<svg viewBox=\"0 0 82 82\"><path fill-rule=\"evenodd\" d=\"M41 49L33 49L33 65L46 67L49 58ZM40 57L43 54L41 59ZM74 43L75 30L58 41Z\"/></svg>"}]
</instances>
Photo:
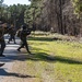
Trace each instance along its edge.
<instances>
[{"instance_id":1,"label":"brownish bare-trunked woods filling the upper right","mask_svg":"<svg viewBox=\"0 0 82 82\"><path fill-rule=\"evenodd\" d=\"M40 14L35 17L37 30L73 36L82 34L82 0L31 1L35 7L40 8L38 11ZM38 12L35 12L35 15Z\"/></svg>"}]
</instances>

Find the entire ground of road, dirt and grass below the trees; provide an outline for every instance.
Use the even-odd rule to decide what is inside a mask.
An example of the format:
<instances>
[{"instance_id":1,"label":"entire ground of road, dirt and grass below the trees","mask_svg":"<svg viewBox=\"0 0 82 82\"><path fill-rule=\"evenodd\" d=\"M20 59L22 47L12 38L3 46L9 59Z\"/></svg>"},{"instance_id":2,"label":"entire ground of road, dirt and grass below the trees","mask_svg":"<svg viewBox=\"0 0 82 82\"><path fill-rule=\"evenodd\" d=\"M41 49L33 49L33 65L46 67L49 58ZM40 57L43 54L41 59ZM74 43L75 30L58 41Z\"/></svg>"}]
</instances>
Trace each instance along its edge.
<instances>
[{"instance_id":1,"label":"entire ground of road, dirt and grass below the trees","mask_svg":"<svg viewBox=\"0 0 82 82\"><path fill-rule=\"evenodd\" d=\"M82 43L62 35L35 35L28 45L33 55L17 44L7 44L0 82L82 82Z\"/></svg>"}]
</instances>

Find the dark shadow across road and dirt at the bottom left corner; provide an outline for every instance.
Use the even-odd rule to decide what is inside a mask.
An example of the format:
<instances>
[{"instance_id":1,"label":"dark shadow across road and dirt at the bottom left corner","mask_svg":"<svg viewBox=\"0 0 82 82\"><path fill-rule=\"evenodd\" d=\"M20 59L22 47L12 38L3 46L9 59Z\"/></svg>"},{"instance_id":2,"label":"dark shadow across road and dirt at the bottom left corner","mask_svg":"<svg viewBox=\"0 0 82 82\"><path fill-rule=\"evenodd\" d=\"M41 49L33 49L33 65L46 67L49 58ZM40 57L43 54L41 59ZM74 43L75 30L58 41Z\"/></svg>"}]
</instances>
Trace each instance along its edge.
<instances>
[{"instance_id":1,"label":"dark shadow across road and dirt at the bottom left corner","mask_svg":"<svg viewBox=\"0 0 82 82\"><path fill-rule=\"evenodd\" d=\"M36 77L33 77L33 75L27 75L27 74L7 72L4 69L0 69L0 75L16 77L16 78L36 78Z\"/></svg>"}]
</instances>

